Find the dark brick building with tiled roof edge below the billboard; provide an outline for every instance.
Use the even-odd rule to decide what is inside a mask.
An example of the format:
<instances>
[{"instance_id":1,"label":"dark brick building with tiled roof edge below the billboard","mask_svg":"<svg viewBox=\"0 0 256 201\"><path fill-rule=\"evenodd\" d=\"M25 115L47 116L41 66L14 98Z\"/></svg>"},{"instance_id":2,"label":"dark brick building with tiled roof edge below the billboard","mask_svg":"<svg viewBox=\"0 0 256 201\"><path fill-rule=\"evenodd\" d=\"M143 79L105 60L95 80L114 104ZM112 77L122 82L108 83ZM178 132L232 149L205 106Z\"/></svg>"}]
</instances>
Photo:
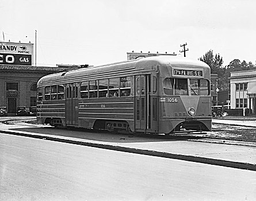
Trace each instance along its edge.
<instances>
[{"instance_id":1,"label":"dark brick building with tiled roof edge below the billboard","mask_svg":"<svg viewBox=\"0 0 256 201\"><path fill-rule=\"evenodd\" d=\"M35 67L24 65L0 65L0 106L14 115L17 107L36 106L38 80L48 74L67 71L70 67Z\"/></svg>"}]
</instances>

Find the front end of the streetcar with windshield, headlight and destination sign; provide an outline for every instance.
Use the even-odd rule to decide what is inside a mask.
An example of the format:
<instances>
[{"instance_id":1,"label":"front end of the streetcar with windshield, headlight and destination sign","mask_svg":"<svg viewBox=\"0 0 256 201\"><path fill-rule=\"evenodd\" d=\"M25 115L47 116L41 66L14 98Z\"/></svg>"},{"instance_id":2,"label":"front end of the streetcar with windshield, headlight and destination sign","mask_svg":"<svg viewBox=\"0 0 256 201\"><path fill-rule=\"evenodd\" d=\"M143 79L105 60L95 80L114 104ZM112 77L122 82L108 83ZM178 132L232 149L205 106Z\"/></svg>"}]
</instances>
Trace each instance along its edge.
<instances>
[{"instance_id":1,"label":"front end of the streetcar with windshield, headlight and destination sign","mask_svg":"<svg viewBox=\"0 0 256 201\"><path fill-rule=\"evenodd\" d=\"M201 61L161 69L159 133L212 130L210 79L210 68Z\"/></svg>"}]
</instances>

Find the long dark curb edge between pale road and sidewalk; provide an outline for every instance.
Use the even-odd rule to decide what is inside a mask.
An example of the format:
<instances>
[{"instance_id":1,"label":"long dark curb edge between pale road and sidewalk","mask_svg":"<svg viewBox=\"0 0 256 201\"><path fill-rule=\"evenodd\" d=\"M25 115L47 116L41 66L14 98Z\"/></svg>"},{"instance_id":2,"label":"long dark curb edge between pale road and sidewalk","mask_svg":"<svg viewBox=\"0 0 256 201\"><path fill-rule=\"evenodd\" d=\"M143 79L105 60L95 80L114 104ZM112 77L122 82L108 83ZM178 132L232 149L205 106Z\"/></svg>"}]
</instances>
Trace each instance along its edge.
<instances>
[{"instance_id":1,"label":"long dark curb edge between pale road and sidewalk","mask_svg":"<svg viewBox=\"0 0 256 201\"><path fill-rule=\"evenodd\" d=\"M116 150L119 152L136 153L136 154L143 154L143 155L147 155L147 156L156 156L156 157L163 157L163 158L168 158L168 159L177 159L177 160L184 160L184 161L190 161L190 162L196 162L196 163L204 163L204 164L210 164L210 165L219 165L219 166L223 166L223 167L247 169L250 171L256 171L256 164L240 163L240 162L220 160L220 159L209 159L209 158L205 158L205 157L174 154L174 153L168 153L168 152L158 152L158 151L146 150L146 149L127 148L127 147L116 146L116 145L105 145L105 144L98 144L98 143L92 143L92 142L67 140L67 139L57 138L57 137L40 136L37 134L16 133L16 132L10 132L7 130L0 130L0 133L12 134L14 136L39 138L42 140L49 140L49 141L58 141L58 142L64 142L64 143L68 143L68 144L90 146L90 147L94 147L94 148Z\"/></svg>"}]
</instances>

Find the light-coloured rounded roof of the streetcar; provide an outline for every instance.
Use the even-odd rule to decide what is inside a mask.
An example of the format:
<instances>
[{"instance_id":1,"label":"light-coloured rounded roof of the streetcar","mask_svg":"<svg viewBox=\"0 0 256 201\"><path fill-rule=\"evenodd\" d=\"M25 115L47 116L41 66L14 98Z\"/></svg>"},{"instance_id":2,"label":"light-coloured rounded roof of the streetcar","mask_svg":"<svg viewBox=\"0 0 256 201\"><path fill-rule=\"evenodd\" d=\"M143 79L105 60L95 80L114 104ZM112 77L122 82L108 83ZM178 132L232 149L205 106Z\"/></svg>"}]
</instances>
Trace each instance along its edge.
<instances>
[{"instance_id":1,"label":"light-coloured rounded roof of the streetcar","mask_svg":"<svg viewBox=\"0 0 256 201\"><path fill-rule=\"evenodd\" d=\"M150 63L150 64L149 64ZM149 64L149 65L147 65ZM152 69L152 66L155 67L157 65L170 65L171 67L188 67L188 68L206 68L209 69L209 66L200 60L193 60L187 57L179 57L179 56L152 56L152 57L144 57L142 59L134 59L128 61L121 61L118 63L111 63L105 65L97 65L89 68L79 68L72 71L67 72L59 72L56 74L46 75L41 78L38 84L44 81L50 80L58 80L63 78L71 78L73 76L81 76L81 75L93 75L97 73L104 72L114 72L114 71L127 71L127 69L132 69L135 67L143 67Z\"/></svg>"}]
</instances>

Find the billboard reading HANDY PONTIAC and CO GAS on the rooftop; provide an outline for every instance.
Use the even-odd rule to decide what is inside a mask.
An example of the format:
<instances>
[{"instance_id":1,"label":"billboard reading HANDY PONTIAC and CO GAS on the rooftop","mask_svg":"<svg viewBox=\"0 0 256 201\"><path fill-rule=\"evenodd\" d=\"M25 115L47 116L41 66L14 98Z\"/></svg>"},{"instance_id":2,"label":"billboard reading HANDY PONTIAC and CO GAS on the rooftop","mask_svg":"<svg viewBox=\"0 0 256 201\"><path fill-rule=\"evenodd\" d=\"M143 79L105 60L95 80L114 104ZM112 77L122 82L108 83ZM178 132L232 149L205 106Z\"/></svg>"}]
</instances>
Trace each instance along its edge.
<instances>
[{"instance_id":1,"label":"billboard reading HANDY PONTIAC and CO GAS on the rooftop","mask_svg":"<svg viewBox=\"0 0 256 201\"><path fill-rule=\"evenodd\" d=\"M0 42L0 64L33 65L33 44Z\"/></svg>"}]
</instances>

